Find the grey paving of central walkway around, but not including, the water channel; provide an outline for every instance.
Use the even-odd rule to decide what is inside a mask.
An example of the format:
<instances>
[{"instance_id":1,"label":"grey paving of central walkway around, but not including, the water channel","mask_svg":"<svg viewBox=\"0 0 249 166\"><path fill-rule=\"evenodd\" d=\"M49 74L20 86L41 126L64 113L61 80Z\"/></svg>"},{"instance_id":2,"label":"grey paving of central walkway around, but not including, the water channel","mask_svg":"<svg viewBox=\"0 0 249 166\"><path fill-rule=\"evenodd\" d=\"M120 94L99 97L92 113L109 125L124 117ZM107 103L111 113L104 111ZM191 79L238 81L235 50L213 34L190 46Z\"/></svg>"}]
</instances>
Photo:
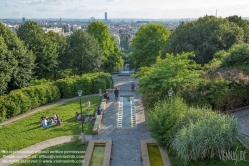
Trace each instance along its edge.
<instances>
[{"instance_id":1,"label":"grey paving of central walkway around, but not including, the water channel","mask_svg":"<svg viewBox=\"0 0 249 166\"><path fill-rule=\"evenodd\" d=\"M137 127L132 129L118 130L117 111L118 102L115 101L113 92L109 92L110 101L106 105L102 119L102 127L93 140L112 140L111 166L142 166L140 140L152 140L145 121L145 112L141 102L141 95L132 92L130 84L133 81L137 86L137 80L129 76L113 75L115 87L120 88L119 94L134 95L137 116Z\"/></svg>"}]
</instances>

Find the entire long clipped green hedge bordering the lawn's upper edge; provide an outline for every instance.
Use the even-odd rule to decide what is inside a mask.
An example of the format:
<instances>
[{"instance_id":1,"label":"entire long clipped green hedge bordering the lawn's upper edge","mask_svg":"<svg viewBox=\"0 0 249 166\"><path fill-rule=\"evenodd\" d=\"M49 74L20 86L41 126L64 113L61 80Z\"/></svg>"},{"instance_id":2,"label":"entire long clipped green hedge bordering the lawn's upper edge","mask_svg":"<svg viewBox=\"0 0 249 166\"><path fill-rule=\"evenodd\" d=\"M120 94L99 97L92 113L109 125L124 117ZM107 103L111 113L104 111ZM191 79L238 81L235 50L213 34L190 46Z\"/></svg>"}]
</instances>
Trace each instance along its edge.
<instances>
[{"instance_id":1,"label":"entire long clipped green hedge bordering the lawn's upper edge","mask_svg":"<svg viewBox=\"0 0 249 166\"><path fill-rule=\"evenodd\" d=\"M39 82L39 81L37 81ZM7 118L30 111L41 105L55 102L60 98L77 96L81 89L83 95L98 93L99 86L104 92L113 87L113 79L108 73L84 74L60 79L53 83L34 85L11 91L6 96L0 96L0 122Z\"/></svg>"}]
</instances>

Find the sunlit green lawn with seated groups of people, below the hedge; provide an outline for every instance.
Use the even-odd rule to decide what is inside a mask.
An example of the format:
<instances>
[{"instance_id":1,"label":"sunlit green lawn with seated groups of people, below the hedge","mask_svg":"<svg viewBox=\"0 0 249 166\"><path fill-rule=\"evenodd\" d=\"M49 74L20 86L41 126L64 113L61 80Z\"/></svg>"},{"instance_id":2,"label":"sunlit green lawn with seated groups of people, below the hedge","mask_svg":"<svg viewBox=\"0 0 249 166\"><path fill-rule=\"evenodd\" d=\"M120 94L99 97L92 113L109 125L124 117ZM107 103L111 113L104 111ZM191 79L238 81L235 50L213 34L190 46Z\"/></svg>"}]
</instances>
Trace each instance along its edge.
<instances>
[{"instance_id":1,"label":"sunlit green lawn with seated groups of people, below the hedge","mask_svg":"<svg viewBox=\"0 0 249 166\"><path fill-rule=\"evenodd\" d=\"M82 103L86 103L87 100L90 100L91 106L83 107L83 114L85 114L87 109L89 109L90 113L93 114L95 107L100 105L102 97L91 96L82 98ZM42 110L31 116L1 127L0 158L3 157L1 150L5 150L6 152L18 151L51 138L65 135L80 135L81 123L76 121L76 111L80 112L79 99ZM57 113L62 118L62 126L44 129L41 126L40 117L43 114L47 117L52 117L53 113ZM92 133L93 125L94 123L84 124L86 134Z\"/></svg>"}]
</instances>

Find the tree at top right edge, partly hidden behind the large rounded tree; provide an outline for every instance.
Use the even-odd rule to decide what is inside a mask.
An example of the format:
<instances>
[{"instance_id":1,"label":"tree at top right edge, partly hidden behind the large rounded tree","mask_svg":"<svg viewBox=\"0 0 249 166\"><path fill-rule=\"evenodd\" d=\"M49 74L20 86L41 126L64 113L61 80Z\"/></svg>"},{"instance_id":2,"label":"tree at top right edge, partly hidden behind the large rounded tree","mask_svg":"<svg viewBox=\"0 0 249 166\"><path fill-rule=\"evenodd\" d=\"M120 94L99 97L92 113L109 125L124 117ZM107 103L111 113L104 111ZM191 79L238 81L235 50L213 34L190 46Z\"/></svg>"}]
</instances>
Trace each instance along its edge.
<instances>
[{"instance_id":1,"label":"tree at top right edge, partly hidden behind the large rounded tree","mask_svg":"<svg viewBox=\"0 0 249 166\"><path fill-rule=\"evenodd\" d=\"M237 24L240 28L244 30L244 42L249 43L249 21L243 20L241 16L239 17L237 15L227 17L227 19L230 22Z\"/></svg>"}]
</instances>

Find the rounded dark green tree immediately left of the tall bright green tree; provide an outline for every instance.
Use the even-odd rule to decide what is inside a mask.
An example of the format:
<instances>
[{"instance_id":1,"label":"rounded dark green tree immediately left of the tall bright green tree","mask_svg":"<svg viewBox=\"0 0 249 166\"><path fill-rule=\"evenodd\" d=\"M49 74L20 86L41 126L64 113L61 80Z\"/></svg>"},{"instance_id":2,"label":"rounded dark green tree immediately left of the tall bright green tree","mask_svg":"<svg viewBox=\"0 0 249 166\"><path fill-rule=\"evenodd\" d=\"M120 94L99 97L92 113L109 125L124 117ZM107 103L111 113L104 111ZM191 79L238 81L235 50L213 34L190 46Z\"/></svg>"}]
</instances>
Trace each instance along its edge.
<instances>
[{"instance_id":1,"label":"rounded dark green tree immediately left of the tall bright green tree","mask_svg":"<svg viewBox=\"0 0 249 166\"><path fill-rule=\"evenodd\" d=\"M67 39L67 43L67 56L76 74L92 72L97 68L103 51L93 36L77 30Z\"/></svg>"}]
</instances>

